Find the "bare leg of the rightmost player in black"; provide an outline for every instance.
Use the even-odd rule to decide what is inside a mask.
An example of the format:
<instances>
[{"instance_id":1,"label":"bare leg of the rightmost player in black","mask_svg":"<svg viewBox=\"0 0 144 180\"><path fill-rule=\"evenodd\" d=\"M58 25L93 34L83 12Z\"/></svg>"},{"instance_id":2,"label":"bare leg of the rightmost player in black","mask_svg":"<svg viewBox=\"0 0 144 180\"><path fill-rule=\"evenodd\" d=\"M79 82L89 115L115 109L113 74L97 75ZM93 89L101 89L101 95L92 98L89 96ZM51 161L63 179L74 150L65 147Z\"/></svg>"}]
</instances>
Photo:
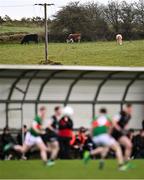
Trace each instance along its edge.
<instances>
[{"instance_id":1,"label":"bare leg of the rightmost player in black","mask_svg":"<svg viewBox=\"0 0 144 180\"><path fill-rule=\"evenodd\" d=\"M130 139L126 136L122 136L119 139L119 143L124 146L125 148L125 154L124 154L124 160L127 162L130 159L131 152L132 152L132 143Z\"/></svg>"}]
</instances>

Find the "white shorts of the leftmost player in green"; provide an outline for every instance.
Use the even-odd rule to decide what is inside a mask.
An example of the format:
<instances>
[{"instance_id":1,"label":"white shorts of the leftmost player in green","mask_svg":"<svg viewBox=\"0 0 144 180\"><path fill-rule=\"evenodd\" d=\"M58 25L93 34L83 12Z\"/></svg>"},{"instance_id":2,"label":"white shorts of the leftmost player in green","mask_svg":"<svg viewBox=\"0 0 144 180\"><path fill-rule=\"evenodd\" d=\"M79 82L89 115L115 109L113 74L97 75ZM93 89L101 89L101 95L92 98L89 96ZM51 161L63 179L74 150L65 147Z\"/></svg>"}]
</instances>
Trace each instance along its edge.
<instances>
[{"instance_id":1,"label":"white shorts of the leftmost player in green","mask_svg":"<svg viewBox=\"0 0 144 180\"><path fill-rule=\"evenodd\" d=\"M33 145L43 143L43 141L42 141L42 138L40 136L35 137L35 136L31 135L30 132L27 132L24 143L27 146L33 146Z\"/></svg>"}]
</instances>

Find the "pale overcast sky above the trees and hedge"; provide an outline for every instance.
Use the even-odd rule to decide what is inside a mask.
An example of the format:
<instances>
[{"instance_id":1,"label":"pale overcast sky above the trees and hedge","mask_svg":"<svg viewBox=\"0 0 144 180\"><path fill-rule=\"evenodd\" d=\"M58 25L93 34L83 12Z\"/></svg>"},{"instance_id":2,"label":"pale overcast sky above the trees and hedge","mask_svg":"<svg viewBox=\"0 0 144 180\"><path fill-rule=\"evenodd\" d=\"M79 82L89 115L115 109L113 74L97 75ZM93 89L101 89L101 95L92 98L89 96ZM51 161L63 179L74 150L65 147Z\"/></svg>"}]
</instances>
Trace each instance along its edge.
<instances>
[{"instance_id":1,"label":"pale overcast sky above the trees and hedge","mask_svg":"<svg viewBox=\"0 0 144 180\"><path fill-rule=\"evenodd\" d=\"M59 8L68 4L69 2L78 0L0 0L0 16L8 15L13 19L20 19L22 17L43 17L43 8L34 6L35 3L54 3L55 6L49 7L49 16L55 14ZM101 2L107 3L109 0L79 0L84 2ZM119 0L122 1L122 0ZM127 2L133 2L137 0L126 0Z\"/></svg>"}]
</instances>

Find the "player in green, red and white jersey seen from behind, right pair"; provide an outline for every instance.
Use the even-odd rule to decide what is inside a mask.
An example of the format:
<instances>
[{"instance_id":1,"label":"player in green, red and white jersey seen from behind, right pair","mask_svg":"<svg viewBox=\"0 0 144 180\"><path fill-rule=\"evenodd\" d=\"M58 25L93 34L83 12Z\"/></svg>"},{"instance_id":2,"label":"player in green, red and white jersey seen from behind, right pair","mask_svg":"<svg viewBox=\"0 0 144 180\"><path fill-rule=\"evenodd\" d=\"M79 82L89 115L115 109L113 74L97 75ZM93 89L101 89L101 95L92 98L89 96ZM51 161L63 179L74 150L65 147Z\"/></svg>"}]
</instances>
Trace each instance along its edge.
<instances>
[{"instance_id":1,"label":"player in green, red and white jersey seen from behind, right pair","mask_svg":"<svg viewBox=\"0 0 144 180\"><path fill-rule=\"evenodd\" d=\"M87 162L90 156L95 156L97 154L101 155L101 160L99 163L99 169L104 167L104 159L111 148L116 154L116 158L119 164L119 170L123 171L127 169L124 165L122 151L119 144L115 139L109 134L109 130L112 126L111 118L107 115L107 110L105 108L100 109L100 114L95 117L92 122L92 139L98 148L84 153L84 161Z\"/></svg>"}]
</instances>

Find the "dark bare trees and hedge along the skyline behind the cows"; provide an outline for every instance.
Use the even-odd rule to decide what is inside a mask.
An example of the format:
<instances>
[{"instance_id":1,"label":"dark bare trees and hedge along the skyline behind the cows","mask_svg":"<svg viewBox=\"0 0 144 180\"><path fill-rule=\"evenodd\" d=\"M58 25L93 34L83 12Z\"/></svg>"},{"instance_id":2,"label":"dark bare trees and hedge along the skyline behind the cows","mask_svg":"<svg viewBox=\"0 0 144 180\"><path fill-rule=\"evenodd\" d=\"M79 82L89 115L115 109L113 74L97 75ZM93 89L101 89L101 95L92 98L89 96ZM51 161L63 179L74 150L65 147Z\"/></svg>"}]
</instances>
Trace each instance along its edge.
<instances>
[{"instance_id":1,"label":"dark bare trees and hedge along the skyline behind the cows","mask_svg":"<svg viewBox=\"0 0 144 180\"><path fill-rule=\"evenodd\" d=\"M5 16L0 17L2 23L43 26L44 19L34 17L18 21ZM127 40L144 39L144 0L133 3L112 0L106 5L71 2L49 19L48 24L49 39L56 42L63 42L70 33L81 33L85 41L112 40L117 33Z\"/></svg>"}]
</instances>

